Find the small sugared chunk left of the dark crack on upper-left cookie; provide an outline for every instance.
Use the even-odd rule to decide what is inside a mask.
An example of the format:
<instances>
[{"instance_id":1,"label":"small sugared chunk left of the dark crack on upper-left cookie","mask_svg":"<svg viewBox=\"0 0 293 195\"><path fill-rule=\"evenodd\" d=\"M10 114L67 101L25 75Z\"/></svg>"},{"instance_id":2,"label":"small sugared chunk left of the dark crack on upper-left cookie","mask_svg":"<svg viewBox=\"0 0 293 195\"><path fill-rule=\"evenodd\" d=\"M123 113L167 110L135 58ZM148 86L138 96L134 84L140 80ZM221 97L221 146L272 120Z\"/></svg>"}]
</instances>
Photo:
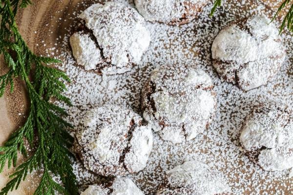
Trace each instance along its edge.
<instances>
[{"instance_id":1,"label":"small sugared chunk left of the dark crack on upper-left cookie","mask_svg":"<svg viewBox=\"0 0 293 195\"><path fill-rule=\"evenodd\" d=\"M84 66L85 70L93 70L96 64L103 62L100 50L89 35L74 33L70 37L70 45L76 62Z\"/></svg>"}]
</instances>

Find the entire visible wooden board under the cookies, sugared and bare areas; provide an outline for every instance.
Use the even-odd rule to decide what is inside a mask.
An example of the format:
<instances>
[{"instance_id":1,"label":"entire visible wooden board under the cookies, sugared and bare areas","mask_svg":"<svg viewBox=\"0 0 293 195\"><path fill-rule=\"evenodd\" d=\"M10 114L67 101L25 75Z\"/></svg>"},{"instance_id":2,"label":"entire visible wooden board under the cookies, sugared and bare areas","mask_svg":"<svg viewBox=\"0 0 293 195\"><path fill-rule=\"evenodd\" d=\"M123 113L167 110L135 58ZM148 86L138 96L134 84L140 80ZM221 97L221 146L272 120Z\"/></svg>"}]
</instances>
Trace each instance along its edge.
<instances>
[{"instance_id":1,"label":"entire visible wooden board under the cookies, sugared and bare areas","mask_svg":"<svg viewBox=\"0 0 293 195\"><path fill-rule=\"evenodd\" d=\"M266 86L243 93L232 84L222 82L211 63L210 47L217 33L230 21L254 14L272 18L280 0L227 0L224 8L209 18L212 3L197 19L182 26L147 23L151 44L144 58L131 72L116 76L100 76L76 66L69 48L68 38L78 14L95 0L33 0L34 4L18 15L21 34L34 52L63 60L59 66L72 79L66 95L72 107L66 107L71 123L77 125L88 108L104 103L125 105L140 113L140 91L151 70L164 63L198 66L207 71L217 92L217 111L209 129L194 140L173 145L154 135L154 150L147 167L131 176L146 195L153 195L164 178L164 173L185 160L199 159L219 170L229 181L232 194L284 194L293 192L290 170L266 172L254 165L239 150L240 128L245 116L254 105L268 100L281 101L293 106L293 39L288 32L282 34L287 50L286 62L276 78ZM123 1L123 0L120 0ZM126 0L125 0L126 1ZM279 20L279 19L278 19ZM1 63L2 64L2 63ZM5 67L0 66L0 72ZM25 120L25 89L17 81L13 94L0 99L0 144ZM72 130L74 134L74 129ZM100 176L74 164L81 189ZM8 181L13 170L0 175L0 188ZM31 195L38 184L39 174L34 173L11 195Z\"/></svg>"}]
</instances>

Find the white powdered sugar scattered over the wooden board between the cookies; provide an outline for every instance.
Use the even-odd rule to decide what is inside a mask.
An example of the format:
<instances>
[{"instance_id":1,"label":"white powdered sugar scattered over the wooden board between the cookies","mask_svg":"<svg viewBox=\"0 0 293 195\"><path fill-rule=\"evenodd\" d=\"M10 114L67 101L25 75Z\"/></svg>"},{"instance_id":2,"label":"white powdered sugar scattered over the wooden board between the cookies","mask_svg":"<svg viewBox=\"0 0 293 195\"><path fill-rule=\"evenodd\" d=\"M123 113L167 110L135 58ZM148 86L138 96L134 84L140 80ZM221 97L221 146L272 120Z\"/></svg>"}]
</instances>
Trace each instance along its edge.
<instances>
[{"instance_id":1,"label":"white powdered sugar scattered over the wooden board between the cookies","mask_svg":"<svg viewBox=\"0 0 293 195\"><path fill-rule=\"evenodd\" d=\"M75 20L84 9L95 2L98 1L82 0L66 20ZM231 194L292 194L293 177L289 178L289 169L278 172L265 171L239 150L241 127L255 105L273 100L293 107L292 35L286 29L281 35L282 43L288 52L276 78L267 85L246 93L231 83L222 82L213 69L211 60L210 49L213 40L231 21L260 14L267 14L271 19L275 8L281 3L276 0L264 2L229 0L216 10L212 18L209 17L212 7L210 2L197 19L181 26L147 22L146 27L152 39L149 48L142 61L123 75L100 76L76 66L68 45L74 27L68 27L68 33L56 40L59 50L47 50L48 55L55 53L56 58L63 60L59 68L72 80L67 85L68 91L65 95L71 99L73 106L60 104L69 114L67 120L78 126L90 107L105 103L123 105L140 113L141 90L153 69L166 64L197 65L211 77L217 93L216 114L209 129L193 140L175 145L154 134L153 150L145 169L129 177L146 195L155 195L158 186L164 183L166 171L185 161L200 159L225 176L231 187ZM61 22L58 18L56 20ZM279 25L278 23L277 26ZM44 47L45 49L47 47ZM73 135L75 130L76 128L72 130ZM105 177L86 170L80 161L76 161L73 168L81 190L92 184L105 183Z\"/></svg>"}]
</instances>

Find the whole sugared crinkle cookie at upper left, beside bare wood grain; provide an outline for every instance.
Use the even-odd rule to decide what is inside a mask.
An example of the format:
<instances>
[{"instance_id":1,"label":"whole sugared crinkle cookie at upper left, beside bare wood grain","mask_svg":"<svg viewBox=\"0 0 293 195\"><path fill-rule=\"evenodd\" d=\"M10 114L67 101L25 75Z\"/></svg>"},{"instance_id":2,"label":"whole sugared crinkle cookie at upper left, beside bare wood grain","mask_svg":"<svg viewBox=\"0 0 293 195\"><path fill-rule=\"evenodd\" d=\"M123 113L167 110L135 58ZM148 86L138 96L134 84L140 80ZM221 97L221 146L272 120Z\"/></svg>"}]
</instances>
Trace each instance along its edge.
<instances>
[{"instance_id":1,"label":"whole sugared crinkle cookie at upper left, beside bare wood grain","mask_svg":"<svg viewBox=\"0 0 293 195\"><path fill-rule=\"evenodd\" d=\"M141 61L150 42L144 18L116 2L93 4L80 16L70 45L77 63L100 74L122 74Z\"/></svg>"}]
</instances>

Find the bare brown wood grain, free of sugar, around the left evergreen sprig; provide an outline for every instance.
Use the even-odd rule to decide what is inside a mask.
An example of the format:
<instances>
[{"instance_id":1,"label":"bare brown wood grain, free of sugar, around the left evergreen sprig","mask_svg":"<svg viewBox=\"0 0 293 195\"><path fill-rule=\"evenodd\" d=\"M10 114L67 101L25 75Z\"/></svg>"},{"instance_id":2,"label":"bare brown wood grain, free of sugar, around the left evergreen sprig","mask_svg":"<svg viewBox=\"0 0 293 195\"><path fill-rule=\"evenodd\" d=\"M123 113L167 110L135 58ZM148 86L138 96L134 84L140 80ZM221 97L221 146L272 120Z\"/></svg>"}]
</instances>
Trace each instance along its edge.
<instances>
[{"instance_id":1,"label":"bare brown wood grain, free of sugar, around the left evergreen sprig","mask_svg":"<svg viewBox=\"0 0 293 195\"><path fill-rule=\"evenodd\" d=\"M39 55L46 55L46 49L54 47L55 43L63 39L68 33L67 27L72 22L73 13L84 9L80 2L90 4L93 0L32 0L33 5L19 11L17 23L21 35L26 40L29 47ZM263 0L266 5L270 1ZM280 1L280 0L279 0ZM245 9L245 7L244 7ZM58 48L57 48L58 49ZM0 75L7 70L0 59ZM0 98L0 144L3 144L8 136L15 131L25 120L26 110L29 106L26 101L25 86L21 81L15 80L14 93L8 91L3 98ZM21 161L21 156L20 160ZM13 172L13 169L5 169L0 174L0 188L2 188ZM19 190L10 195L32 195L39 178L36 173L28 176L25 182L21 183Z\"/></svg>"}]
</instances>

